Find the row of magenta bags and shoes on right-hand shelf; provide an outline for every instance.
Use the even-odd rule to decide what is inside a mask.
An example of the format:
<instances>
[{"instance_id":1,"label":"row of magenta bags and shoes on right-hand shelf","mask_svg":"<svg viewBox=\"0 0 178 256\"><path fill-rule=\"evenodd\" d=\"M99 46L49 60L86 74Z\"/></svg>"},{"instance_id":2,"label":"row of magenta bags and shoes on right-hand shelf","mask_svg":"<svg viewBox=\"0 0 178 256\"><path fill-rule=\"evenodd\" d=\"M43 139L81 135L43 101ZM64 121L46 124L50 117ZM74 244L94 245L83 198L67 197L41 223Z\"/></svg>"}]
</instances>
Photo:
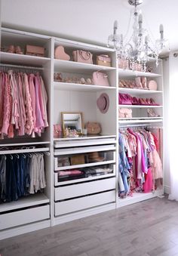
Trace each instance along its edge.
<instances>
[{"instance_id":1,"label":"row of magenta bags and shoes on right-hand shelf","mask_svg":"<svg viewBox=\"0 0 178 256\"><path fill-rule=\"evenodd\" d=\"M152 98L131 97L129 94L118 94L118 103L121 105L159 106Z\"/></svg>"}]
</instances>

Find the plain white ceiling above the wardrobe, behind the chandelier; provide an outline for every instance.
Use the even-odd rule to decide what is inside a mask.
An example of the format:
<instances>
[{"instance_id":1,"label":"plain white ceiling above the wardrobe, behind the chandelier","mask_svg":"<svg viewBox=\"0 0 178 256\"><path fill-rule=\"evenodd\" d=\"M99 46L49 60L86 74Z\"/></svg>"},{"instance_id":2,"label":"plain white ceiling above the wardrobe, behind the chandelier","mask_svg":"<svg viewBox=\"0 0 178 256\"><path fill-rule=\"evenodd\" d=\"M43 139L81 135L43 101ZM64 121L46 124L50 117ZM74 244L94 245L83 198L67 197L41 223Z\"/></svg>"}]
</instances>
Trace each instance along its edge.
<instances>
[{"instance_id":1,"label":"plain white ceiling above the wardrobe, behind the chandelier","mask_svg":"<svg viewBox=\"0 0 178 256\"><path fill-rule=\"evenodd\" d=\"M164 36L170 49L178 49L178 1L144 0L143 26L159 37ZM2 25L69 39L106 44L114 20L119 31L126 32L130 17L127 0L2 0Z\"/></svg>"}]
</instances>

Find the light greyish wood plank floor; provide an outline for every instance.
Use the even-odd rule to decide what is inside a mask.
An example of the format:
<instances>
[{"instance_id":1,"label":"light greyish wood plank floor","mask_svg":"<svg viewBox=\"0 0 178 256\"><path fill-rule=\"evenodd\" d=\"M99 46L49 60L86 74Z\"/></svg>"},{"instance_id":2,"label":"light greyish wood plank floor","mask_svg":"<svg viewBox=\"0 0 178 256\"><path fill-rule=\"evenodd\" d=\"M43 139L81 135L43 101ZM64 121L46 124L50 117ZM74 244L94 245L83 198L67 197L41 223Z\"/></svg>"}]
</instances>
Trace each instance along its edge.
<instances>
[{"instance_id":1,"label":"light greyish wood plank floor","mask_svg":"<svg viewBox=\"0 0 178 256\"><path fill-rule=\"evenodd\" d=\"M178 255L178 202L150 199L0 241L2 256Z\"/></svg>"}]
</instances>

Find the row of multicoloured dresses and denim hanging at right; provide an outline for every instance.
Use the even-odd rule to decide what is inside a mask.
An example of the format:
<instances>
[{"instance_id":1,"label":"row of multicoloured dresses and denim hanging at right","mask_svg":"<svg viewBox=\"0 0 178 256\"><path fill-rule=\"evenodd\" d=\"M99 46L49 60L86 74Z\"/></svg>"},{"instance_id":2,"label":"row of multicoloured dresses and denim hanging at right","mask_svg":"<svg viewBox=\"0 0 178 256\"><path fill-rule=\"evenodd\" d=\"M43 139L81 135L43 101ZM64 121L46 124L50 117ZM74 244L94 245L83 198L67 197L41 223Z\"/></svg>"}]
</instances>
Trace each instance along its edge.
<instances>
[{"instance_id":1,"label":"row of multicoloured dresses and denim hanging at right","mask_svg":"<svg viewBox=\"0 0 178 256\"><path fill-rule=\"evenodd\" d=\"M155 190L163 177L158 137L143 128L127 128L119 131L118 143L119 196L123 198L132 196L133 192Z\"/></svg>"}]
</instances>

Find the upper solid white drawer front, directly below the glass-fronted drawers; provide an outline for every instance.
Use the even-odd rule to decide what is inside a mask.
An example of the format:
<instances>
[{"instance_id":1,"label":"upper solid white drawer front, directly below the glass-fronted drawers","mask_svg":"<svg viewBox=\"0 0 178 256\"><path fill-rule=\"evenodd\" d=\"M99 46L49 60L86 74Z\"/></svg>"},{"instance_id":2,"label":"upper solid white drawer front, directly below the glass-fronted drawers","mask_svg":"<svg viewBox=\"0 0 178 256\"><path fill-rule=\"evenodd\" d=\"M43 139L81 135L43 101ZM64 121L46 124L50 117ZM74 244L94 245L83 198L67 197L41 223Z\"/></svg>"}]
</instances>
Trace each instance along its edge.
<instances>
[{"instance_id":1,"label":"upper solid white drawer front, directly below the glass-fronted drawers","mask_svg":"<svg viewBox=\"0 0 178 256\"><path fill-rule=\"evenodd\" d=\"M91 182L86 182L84 184L57 187L54 189L54 199L55 201L57 201L114 189L115 177L112 177L105 180L95 180Z\"/></svg>"}]
</instances>

